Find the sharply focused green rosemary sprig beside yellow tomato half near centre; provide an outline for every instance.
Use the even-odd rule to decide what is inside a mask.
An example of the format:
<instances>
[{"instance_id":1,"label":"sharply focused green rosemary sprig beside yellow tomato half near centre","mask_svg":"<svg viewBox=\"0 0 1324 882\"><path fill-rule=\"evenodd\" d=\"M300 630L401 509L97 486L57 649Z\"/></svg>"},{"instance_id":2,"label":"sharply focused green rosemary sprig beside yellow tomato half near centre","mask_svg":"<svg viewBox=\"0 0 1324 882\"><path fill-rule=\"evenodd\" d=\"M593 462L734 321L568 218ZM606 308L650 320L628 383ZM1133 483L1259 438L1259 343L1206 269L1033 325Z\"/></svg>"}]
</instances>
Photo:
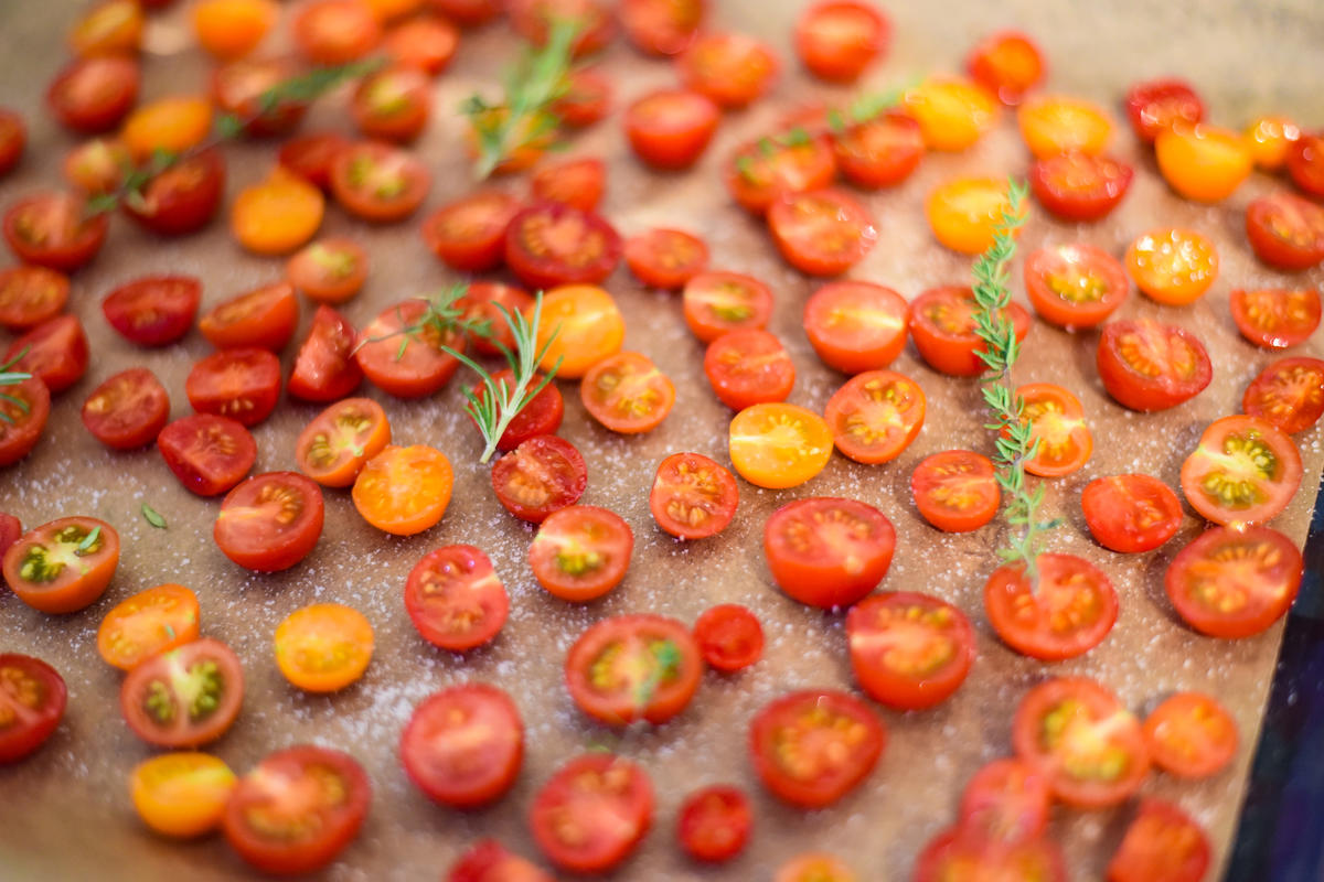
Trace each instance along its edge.
<instances>
[{"instance_id":1,"label":"sharply focused green rosemary sprig beside yellow tomato half near centre","mask_svg":"<svg viewBox=\"0 0 1324 882\"><path fill-rule=\"evenodd\" d=\"M552 341L556 340L556 335L560 332L560 328L553 331L547 337L547 342L539 348L538 331L543 320L542 291L538 292L534 300L531 319L526 319L522 312L507 309L502 304L496 304L496 308L500 309L502 317L504 317L511 335L515 337L514 350L499 340L491 340L493 345L500 349L502 356L506 357L506 362L515 374L510 386L504 382L498 382L482 365L465 353L450 346L441 346L444 352L450 353L466 368L478 374L483 382L481 395L475 395L471 390L465 390L465 398L467 399L465 411L474 418L478 431L482 434L483 440L487 442L487 446L483 447L483 455L478 458L479 463L486 463L493 458L493 454L496 452L496 442L506 434L511 421L528 406L528 402L538 397L538 393L543 391L547 383L552 382L552 377L561 368L561 360L557 358L552 369L543 374L540 381L538 380L538 365L547 357Z\"/></svg>"}]
</instances>

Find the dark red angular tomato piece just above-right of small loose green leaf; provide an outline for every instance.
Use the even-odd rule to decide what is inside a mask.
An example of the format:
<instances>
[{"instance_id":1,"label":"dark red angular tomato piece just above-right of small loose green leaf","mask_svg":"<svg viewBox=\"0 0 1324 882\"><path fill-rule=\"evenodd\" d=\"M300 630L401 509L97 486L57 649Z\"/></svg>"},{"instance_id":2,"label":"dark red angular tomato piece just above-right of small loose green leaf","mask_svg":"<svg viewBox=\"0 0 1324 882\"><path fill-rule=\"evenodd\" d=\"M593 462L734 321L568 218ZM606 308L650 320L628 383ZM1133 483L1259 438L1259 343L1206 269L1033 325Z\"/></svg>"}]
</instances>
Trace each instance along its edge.
<instances>
[{"instance_id":1,"label":"dark red angular tomato piece just above-right of small loose green leaf","mask_svg":"<svg viewBox=\"0 0 1324 882\"><path fill-rule=\"evenodd\" d=\"M176 419L156 436L156 447L179 483L199 496L226 492L257 461L257 443L249 430L214 414Z\"/></svg>"}]
</instances>

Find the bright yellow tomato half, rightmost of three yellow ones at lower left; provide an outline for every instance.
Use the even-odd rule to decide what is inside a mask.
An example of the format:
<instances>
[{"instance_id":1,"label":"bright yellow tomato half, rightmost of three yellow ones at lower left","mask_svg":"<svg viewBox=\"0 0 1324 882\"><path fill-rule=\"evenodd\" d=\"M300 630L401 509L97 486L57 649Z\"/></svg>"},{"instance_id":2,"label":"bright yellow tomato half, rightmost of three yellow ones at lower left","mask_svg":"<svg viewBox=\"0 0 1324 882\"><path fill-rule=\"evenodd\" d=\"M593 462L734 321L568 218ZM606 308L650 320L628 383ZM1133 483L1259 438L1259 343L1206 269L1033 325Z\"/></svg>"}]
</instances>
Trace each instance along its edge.
<instances>
[{"instance_id":1,"label":"bright yellow tomato half, rightmost of three yellow ones at lower left","mask_svg":"<svg viewBox=\"0 0 1324 882\"><path fill-rule=\"evenodd\" d=\"M314 603L275 627L275 664L307 692L336 692L363 676L372 661L372 625L340 603Z\"/></svg>"}]
</instances>

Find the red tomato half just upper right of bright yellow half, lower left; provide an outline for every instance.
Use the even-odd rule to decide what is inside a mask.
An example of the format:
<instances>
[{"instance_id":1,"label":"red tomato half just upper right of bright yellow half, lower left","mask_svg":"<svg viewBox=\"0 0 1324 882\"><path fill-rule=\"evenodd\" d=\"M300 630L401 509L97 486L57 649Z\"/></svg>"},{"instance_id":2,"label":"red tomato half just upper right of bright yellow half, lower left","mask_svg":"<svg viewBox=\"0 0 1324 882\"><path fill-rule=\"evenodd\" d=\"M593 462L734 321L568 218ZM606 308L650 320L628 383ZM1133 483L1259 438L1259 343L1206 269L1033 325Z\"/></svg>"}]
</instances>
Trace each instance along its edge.
<instances>
[{"instance_id":1,"label":"red tomato half just upper right of bright yellow half, lower left","mask_svg":"<svg viewBox=\"0 0 1324 882\"><path fill-rule=\"evenodd\" d=\"M424 640L465 652L496 636L510 615L510 598L486 554L473 545L446 545L409 571L405 611Z\"/></svg>"}]
</instances>

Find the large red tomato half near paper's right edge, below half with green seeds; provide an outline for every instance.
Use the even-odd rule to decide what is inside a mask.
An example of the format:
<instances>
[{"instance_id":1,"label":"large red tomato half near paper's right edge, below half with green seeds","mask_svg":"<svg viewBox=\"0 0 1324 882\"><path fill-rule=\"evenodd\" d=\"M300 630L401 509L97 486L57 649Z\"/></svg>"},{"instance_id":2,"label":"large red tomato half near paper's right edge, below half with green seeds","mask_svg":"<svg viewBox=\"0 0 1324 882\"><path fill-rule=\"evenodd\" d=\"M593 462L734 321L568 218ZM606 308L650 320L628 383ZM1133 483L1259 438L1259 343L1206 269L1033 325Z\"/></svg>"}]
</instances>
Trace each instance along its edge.
<instances>
[{"instance_id":1,"label":"large red tomato half near paper's right edge, below half with green seeds","mask_svg":"<svg viewBox=\"0 0 1324 882\"><path fill-rule=\"evenodd\" d=\"M1283 618L1301 584L1301 553L1267 526L1217 526L1168 565L1164 587L1177 614L1211 637L1251 637Z\"/></svg>"}]
</instances>

